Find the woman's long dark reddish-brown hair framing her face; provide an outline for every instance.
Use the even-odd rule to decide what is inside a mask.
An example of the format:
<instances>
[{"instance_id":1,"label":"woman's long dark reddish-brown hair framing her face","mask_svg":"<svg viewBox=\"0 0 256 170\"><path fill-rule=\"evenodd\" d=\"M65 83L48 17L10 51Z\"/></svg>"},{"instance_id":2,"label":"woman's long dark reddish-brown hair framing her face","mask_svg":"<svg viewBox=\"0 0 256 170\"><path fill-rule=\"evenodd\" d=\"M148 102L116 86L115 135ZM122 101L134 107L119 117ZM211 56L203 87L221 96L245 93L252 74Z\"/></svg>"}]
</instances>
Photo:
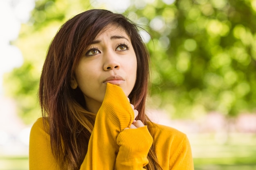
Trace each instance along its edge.
<instances>
[{"instance_id":1,"label":"woman's long dark reddish-brown hair framing her face","mask_svg":"<svg viewBox=\"0 0 256 170\"><path fill-rule=\"evenodd\" d=\"M86 110L81 90L73 90L70 80L85 48L109 24L121 26L130 37L137 57L137 77L129 98L139 112L137 119L145 125L149 121L145 114L149 55L138 27L124 15L103 9L74 16L61 26L49 46L39 87L43 117L49 122L52 152L64 170L78 170L81 166L96 116ZM154 146L150 148L148 160L147 170L161 169Z\"/></svg>"}]
</instances>

